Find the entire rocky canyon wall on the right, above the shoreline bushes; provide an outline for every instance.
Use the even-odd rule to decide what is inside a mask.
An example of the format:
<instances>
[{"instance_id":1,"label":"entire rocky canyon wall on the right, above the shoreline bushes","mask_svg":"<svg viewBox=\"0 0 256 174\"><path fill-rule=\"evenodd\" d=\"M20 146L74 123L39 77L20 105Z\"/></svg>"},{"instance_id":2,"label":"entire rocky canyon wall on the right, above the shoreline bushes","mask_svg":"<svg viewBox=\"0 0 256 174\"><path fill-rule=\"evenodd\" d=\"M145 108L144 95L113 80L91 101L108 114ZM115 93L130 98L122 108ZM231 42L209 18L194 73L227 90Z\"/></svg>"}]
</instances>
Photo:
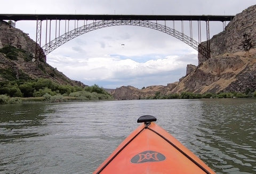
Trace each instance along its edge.
<instances>
[{"instance_id":1,"label":"entire rocky canyon wall on the right, above the shoreline bushes","mask_svg":"<svg viewBox=\"0 0 256 174\"><path fill-rule=\"evenodd\" d=\"M206 46L206 42L202 45ZM154 93L157 90L162 94L256 90L256 5L237 14L224 31L210 39L210 47L210 59L198 54L198 67L188 65L186 76L179 82L162 86L161 90L155 88ZM125 98L121 91L114 92L117 99ZM133 94L141 92L133 90Z\"/></svg>"}]
</instances>

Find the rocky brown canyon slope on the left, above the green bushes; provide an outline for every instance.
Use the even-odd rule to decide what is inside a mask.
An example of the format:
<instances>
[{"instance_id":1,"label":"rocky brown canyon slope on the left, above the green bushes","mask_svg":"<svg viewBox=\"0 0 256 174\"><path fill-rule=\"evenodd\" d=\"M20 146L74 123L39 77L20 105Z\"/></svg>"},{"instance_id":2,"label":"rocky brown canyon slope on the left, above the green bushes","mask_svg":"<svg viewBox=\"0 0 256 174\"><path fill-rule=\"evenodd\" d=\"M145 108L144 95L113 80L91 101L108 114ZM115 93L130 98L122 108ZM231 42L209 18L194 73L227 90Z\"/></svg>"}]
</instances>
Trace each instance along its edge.
<instances>
[{"instance_id":1,"label":"rocky brown canyon slope on the left, above the green bushes","mask_svg":"<svg viewBox=\"0 0 256 174\"><path fill-rule=\"evenodd\" d=\"M0 21L0 49L0 81L48 78L61 85L84 86L45 63L45 58L35 60L35 42L4 21Z\"/></svg>"}]
</instances>

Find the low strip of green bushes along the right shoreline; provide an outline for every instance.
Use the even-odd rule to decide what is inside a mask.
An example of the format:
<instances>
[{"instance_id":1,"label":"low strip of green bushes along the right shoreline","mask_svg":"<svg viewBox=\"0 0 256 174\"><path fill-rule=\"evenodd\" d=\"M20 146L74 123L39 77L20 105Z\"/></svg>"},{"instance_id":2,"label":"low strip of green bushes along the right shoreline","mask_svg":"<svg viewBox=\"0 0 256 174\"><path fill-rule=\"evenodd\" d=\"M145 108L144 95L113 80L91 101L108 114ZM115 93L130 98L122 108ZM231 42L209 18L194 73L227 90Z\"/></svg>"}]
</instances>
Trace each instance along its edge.
<instances>
[{"instance_id":1,"label":"low strip of green bushes along the right shoreline","mask_svg":"<svg viewBox=\"0 0 256 174\"><path fill-rule=\"evenodd\" d=\"M183 92L181 94L169 94L163 95L160 92L156 92L154 96L147 97L146 99L194 99L194 98L252 98L256 97L256 91L252 93L250 90L246 93L205 93L205 94L195 94L190 92Z\"/></svg>"}]
</instances>

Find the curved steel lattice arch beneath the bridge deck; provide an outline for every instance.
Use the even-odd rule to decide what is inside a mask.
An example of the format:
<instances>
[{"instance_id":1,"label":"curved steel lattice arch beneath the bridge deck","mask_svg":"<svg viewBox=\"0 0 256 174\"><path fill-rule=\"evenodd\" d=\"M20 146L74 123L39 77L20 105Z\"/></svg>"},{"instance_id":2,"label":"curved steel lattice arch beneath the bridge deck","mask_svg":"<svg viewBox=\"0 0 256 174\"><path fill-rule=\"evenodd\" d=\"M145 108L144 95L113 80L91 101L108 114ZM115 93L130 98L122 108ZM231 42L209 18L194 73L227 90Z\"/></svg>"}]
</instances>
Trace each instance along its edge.
<instances>
[{"instance_id":1,"label":"curved steel lattice arch beneath the bridge deck","mask_svg":"<svg viewBox=\"0 0 256 174\"><path fill-rule=\"evenodd\" d=\"M75 28L69 32L66 32L65 34L51 40L51 42L42 46L44 54L47 55L51 53L54 49L67 43L69 40L74 39L78 36L81 36L87 32L101 29L101 28L111 27L111 26L139 26L139 27L155 29L181 40L182 42L196 49L196 51L198 51L205 57L209 57L210 55L210 50L208 48L204 46L198 47L199 43L196 40L183 34L182 32L179 32L175 29L167 27L163 24L159 24L151 21L141 21L141 20L129 20L129 21L128 20L102 20L102 21L93 22L90 24L85 24L82 27Z\"/></svg>"}]
</instances>

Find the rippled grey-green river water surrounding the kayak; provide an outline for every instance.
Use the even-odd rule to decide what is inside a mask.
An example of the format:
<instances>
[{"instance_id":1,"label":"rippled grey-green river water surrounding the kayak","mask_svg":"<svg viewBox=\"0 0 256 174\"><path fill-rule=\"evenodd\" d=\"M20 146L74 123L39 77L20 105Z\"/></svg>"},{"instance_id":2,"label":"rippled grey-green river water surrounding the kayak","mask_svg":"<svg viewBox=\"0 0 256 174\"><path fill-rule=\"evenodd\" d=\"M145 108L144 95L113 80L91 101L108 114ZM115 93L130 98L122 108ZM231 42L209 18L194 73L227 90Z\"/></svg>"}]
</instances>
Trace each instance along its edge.
<instances>
[{"instance_id":1,"label":"rippled grey-green river water surrounding the kayak","mask_svg":"<svg viewBox=\"0 0 256 174\"><path fill-rule=\"evenodd\" d=\"M217 173L256 173L256 100L0 105L0 173L92 173L141 115Z\"/></svg>"}]
</instances>

